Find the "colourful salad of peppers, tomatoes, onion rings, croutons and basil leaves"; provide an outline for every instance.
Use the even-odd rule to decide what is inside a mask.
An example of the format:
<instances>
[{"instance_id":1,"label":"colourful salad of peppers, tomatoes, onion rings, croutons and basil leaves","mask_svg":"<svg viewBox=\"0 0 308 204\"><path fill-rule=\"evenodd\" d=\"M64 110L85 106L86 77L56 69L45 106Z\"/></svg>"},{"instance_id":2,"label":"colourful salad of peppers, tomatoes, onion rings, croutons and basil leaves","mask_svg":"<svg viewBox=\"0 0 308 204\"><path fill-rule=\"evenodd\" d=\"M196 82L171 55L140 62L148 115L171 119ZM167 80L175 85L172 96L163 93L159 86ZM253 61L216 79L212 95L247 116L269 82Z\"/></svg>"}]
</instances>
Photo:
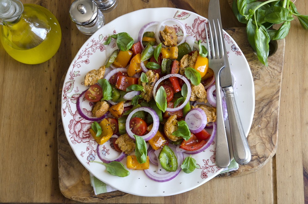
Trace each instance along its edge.
<instances>
[{"instance_id":1,"label":"colourful salad of peppers, tomatoes, onion rings, croutons and basil leaves","mask_svg":"<svg viewBox=\"0 0 308 204\"><path fill-rule=\"evenodd\" d=\"M184 36L179 40L166 22L180 25ZM149 30L153 26L155 32ZM89 131L102 162L92 162L119 177L128 176L127 169L143 170L158 182L181 170L193 172L192 155L208 148L216 133L214 73L205 46L187 36L175 19L144 25L138 39L122 32L104 44L108 58L87 73L89 88L77 100L80 115L93 121ZM112 69L105 73L106 68ZM91 116L83 111L84 98L94 103ZM106 141L119 156L107 158L99 151ZM124 158L126 166L120 162Z\"/></svg>"}]
</instances>

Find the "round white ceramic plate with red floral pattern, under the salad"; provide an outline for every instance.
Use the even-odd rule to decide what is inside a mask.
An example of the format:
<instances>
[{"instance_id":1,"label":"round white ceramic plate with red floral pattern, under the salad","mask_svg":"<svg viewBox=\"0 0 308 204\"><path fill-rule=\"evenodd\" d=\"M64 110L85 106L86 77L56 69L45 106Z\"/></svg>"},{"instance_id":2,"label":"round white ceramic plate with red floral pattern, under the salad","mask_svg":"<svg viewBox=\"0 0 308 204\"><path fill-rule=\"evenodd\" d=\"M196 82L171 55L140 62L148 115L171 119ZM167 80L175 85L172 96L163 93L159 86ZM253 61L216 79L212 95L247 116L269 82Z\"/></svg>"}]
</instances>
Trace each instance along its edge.
<instances>
[{"instance_id":1,"label":"round white ceramic plate with red floral pattern, under the salad","mask_svg":"<svg viewBox=\"0 0 308 204\"><path fill-rule=\"evenodd\" d=\"M143 25L152 21L163 21L167 18L176 18L182 22L186 27L188 35L192 35L196 40L200 39L205 44L203 22L207 23L206 18L175 8L137 10L120 16L103 26L83 44L67 71L63 85L62 121L67 140L76 157L99 180L129 194L140 196L180 194L204 184L223 170L215 163L215 138L205 152L193 155L197 161L197 169L189 174L181 171L177 177L168 182L152 181L141 170L129 170L130 175L124 178L112 176L107 173L105 166L89 162L90 160L100 161L100 159L96 152L97 143L88 131L91 127L91 122L83 119L78 111L76 111L76 99L81 92L87 89L84 86L84 76L88 71L98 69L105 63L107 59L107 46L103 45L103 42L105 42L108 35L127 32L136 42L138 32ZM179 27L179 25L174 25L175 23L171 22L170 24L176 28ZM155 27L150 29L153 30ZM176 31L177 35L180 36L181 29L176 29ZM249 65L237 44L228 34L224 33L224 37L231 71L236 75L237 79L235 98L245 134L248 135L254 112L253 78ZM205 45L205 47L207 46ZM92 106L92 103L88 101L83 102L83 107L87 108L88 111L91 111L90 106ZM228 124L228 121L226 121L226 124ZM116 154L112 148L112 143L108 141L101 145L99 151L105 153L106 157L111 157ZM126 158L124 158L122 163L126 166Z\"/></svg>"}]
</instances>

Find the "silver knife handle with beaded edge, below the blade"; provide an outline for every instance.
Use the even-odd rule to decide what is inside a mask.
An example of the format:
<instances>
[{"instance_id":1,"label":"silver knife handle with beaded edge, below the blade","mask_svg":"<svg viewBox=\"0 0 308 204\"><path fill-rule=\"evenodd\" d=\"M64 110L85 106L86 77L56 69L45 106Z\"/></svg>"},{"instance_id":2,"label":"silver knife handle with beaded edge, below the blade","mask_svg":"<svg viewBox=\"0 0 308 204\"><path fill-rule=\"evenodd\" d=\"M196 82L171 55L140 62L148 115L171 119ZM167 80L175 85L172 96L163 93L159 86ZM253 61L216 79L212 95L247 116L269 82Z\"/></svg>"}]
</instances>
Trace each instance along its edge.
<instances>
[{"instance_id":1,"label":"silver knife handle with beaded edge, below the blade","mask_svg":"<svg viewBox=\"0 0 308 204\"><path fill-rule=\"evenodd\" d=\"M243 130L240 115L234 98L233 88L223 89L229 115L231 144L234 160L240 164L247 164L251 160L251 153Z\"/></svg>"}]
</instances>

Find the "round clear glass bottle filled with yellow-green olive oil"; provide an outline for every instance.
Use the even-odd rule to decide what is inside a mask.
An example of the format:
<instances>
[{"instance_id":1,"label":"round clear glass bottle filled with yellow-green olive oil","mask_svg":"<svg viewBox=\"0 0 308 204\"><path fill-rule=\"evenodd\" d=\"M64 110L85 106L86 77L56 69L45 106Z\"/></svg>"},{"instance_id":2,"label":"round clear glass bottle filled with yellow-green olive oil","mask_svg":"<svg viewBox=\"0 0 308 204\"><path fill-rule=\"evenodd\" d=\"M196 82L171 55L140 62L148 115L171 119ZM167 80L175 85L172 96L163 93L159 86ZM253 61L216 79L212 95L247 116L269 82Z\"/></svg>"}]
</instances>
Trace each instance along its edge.
<instances>
[{"instance_id":1,"label":"round clear glass bottle filled with yellow-green olive oil","mask_svg":"<svg viewBox=\"0 0 308 204\"><path fill-rule=\"evenodd\" d=\"M39 64L49 60L61 43L61 28L46 8L18 0L0 0L0 41L19 62Z\"/></svg>"}]
</instances>

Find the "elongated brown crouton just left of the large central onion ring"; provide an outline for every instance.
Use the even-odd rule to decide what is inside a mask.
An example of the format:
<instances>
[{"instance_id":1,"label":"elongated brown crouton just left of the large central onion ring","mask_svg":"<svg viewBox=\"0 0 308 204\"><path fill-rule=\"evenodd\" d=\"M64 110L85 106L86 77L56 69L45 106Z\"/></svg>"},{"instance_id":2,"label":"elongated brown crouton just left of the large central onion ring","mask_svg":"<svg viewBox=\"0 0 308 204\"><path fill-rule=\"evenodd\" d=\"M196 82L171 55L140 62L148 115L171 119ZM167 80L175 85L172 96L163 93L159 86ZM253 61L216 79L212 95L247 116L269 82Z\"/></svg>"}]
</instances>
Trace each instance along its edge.
<instances>
[{"instance_id":1,"label":"elongated brown crouton just left of the large central onion ring","mask_svg":"<svg viewBox=\"0 0 308 204\"><path fill-rule=\"evenodd\" d=\"M145 73L147 75L148 82L144 83L141 82L140 78L138 80L138 84L143 86L143 89L145 92L141 92L141 96L143 97L144 100L149 102L153 98L153 89L154 85L159 79L159 74L155 74L154 71L149 70Z\"/></svg>"}]
</instances>

